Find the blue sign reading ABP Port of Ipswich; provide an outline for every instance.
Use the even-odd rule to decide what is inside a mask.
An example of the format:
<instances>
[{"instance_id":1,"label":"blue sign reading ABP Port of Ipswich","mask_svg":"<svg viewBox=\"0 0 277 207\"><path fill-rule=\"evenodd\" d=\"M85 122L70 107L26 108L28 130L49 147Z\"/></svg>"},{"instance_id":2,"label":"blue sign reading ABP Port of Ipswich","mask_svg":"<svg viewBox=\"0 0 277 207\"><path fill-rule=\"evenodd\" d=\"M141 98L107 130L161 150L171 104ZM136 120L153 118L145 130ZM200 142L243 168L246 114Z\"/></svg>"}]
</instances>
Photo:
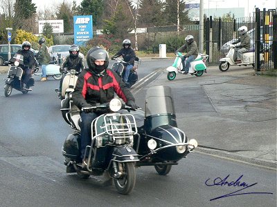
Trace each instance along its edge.
<instances>
[{"instance_id":1,"label":"blue sign reading ABP Port of Ipswich","mask_svg":"<svg viewBox=\"0 0 277 207\"><path fill-rule=\"evenodd\" d=\"M92 16L74 16L74 43L78 46L85 45L92 39Z\"/></svg>"}]
</instances>

